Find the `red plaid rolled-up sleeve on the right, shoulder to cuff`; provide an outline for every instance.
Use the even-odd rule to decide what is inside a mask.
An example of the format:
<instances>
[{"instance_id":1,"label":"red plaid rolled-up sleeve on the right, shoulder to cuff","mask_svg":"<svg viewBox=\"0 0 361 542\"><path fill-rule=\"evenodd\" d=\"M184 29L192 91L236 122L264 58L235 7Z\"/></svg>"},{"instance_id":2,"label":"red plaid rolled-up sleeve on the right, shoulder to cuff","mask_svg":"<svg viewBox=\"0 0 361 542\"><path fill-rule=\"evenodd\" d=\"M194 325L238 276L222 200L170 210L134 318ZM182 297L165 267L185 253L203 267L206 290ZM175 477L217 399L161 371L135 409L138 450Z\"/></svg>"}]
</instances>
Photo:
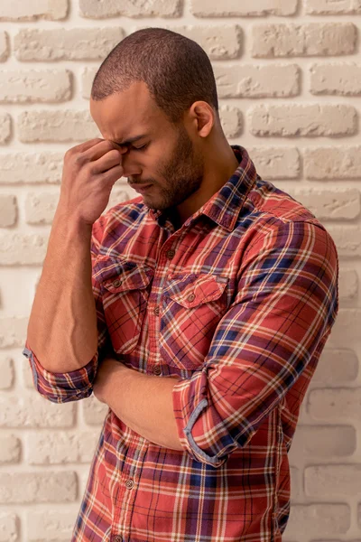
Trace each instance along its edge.
<instances>
[{"instance_id":1,"label":"red plaid rolled-up sleeve on the right, shoulder to cuff","mask_svg":"<svg viewBox=\"0 0 361 542\"><path fill-rule=\"evenodd\" d=\"M245 251L235 302L208 355L172 391L180 444L218 467L292 388L338 313L338 253L306 221L278 222Z\"/></svg>"}]
</instances>

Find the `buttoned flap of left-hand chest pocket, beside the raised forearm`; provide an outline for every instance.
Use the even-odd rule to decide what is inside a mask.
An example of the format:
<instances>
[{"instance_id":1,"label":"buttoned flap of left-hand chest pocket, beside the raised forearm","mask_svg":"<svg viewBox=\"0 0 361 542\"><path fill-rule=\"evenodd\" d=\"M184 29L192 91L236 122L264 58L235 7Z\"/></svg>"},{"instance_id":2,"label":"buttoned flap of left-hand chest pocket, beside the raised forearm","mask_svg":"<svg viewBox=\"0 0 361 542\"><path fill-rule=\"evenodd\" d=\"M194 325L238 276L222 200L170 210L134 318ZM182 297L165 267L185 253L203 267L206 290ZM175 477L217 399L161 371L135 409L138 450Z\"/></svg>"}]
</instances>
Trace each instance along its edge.
<instances>
[{"instance_id":1,"label":"buttoned flap of left-hand chest pocket, beside the raised forearm","mask_svg":"<svg viewBox=\"0 0 361 542\"><path fill-rule=\"evenodd\" d=\"M93 276L106 290L114 294L129 290L142 290L153 279L152 267L129 260L97 257Z\"/></svg>"}]
</instances>

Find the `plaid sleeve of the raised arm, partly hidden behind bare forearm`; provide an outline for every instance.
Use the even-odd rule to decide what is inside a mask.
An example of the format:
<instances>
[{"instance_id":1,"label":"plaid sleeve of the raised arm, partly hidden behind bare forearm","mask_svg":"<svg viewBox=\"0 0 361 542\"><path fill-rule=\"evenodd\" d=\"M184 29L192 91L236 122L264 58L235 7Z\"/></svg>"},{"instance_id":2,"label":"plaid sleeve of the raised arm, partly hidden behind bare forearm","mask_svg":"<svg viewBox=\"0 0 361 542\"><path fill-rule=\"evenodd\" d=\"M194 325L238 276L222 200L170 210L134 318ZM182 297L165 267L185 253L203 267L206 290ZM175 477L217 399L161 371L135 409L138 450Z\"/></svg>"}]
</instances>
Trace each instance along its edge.
<instances>
[{"instance_id":1,"label":"plaid sleeve of the raised arm, partly hidden behind bare forearm","mask_svg":"<svg viewBox=\"0 0 361 542\"><path fill-rule=\"evenodd\" d=\"M100 217L102 219L102 217ZM101 239L102 220L97 220L92 229L91 259L94 264ZM28 358L32 369L32 381L34 388L45 398L53 403L67 403L77 401L92 394L93 382L97 374L98 362L106 353L110 344L109 334L106 327L106 319L103 308L100 285L92 275L92 289L97 310L97 352L87 365L80 369L64 373L53 373L42 367L28 339L25 341L23 355Z\"/></svg>"}]
</instances>

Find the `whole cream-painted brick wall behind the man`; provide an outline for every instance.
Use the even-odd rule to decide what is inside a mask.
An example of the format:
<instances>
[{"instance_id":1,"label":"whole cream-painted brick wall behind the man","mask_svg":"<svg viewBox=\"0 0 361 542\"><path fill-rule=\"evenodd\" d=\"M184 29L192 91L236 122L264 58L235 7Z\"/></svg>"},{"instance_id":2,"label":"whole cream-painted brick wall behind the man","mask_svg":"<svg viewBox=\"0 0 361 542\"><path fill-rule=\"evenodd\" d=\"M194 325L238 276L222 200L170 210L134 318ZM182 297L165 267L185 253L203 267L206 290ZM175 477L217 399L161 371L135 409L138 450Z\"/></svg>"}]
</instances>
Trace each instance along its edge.
<instances>
[{"instance_id":1,"label":"whole cream-painted brick wall behind the man","mask_svg":"<svg viewBox=\"0 0 361 542\"><path fill-rule=\"evenodd\" d=\"M60 193L62 158L100 135L97 66L125 35L198 41L230 143L338 245L340 312L289 454L285 542L361 542L360 0L26 0L0 3L0 542L67 542L106 406L56 405L22 350ZM109 209L136 195L116 182Z\"/></svg>"}]
</instances>

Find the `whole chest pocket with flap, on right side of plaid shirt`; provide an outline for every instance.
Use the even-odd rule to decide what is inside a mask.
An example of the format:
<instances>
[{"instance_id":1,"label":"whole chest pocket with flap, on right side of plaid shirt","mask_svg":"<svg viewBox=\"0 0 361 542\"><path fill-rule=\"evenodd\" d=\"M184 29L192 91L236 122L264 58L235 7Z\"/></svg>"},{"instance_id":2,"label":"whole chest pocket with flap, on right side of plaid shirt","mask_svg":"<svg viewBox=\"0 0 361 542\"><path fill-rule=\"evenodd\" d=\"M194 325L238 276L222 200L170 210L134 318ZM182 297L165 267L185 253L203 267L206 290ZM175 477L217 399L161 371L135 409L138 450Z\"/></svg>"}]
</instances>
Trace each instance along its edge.
<instances>
[{"instance_id":1,"label":"whole chest pocket with flap, on right side of plaid shirt","mask_svg":"<svg viewBox=\"0 0 361 542\"><path fill-rule=\"evenodd\" d=\"M227 312L227 277L170 276L163 295L160 353L171 366L198 369Z\"/></svg>"}]
</instances>

